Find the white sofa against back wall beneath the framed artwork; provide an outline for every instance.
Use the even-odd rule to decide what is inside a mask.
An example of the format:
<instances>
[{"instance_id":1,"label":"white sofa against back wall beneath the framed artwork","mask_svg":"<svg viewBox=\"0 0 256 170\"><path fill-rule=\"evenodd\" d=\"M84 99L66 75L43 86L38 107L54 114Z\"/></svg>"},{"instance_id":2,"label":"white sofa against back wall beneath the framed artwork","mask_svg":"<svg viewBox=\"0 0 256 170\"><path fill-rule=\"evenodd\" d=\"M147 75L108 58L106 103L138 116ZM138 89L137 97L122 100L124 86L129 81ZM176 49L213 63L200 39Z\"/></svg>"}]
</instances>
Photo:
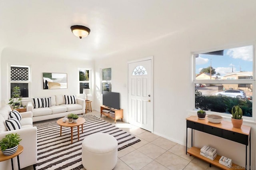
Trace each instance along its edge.
<instances>
[{"instance_id":1,"label":"white sofa against back wall beneath the framed artwork","mask_svg":"<svg viewBox=\"0 0 256 170\"><path fill-rule=\"evenodd\" d=\"M27 111L32 112L33 122L65 117L69 113L74 113L76 115L85 113L84 99L76 98L75 104L65 104L66 101L64 95L53 95L50 97L50 107L40 107L34 109L34 101L28 102Z\"/></svg>"}]
</instances>

